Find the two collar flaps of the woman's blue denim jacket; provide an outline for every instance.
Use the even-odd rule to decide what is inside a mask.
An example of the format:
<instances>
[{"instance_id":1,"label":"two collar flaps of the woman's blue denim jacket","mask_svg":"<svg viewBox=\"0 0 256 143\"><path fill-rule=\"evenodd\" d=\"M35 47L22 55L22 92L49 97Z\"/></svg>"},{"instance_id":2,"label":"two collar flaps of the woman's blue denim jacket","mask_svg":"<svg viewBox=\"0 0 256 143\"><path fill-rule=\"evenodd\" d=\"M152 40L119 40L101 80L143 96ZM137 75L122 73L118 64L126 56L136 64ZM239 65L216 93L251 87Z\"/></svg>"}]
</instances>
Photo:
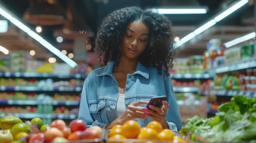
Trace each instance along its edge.
<instances>
[{"instance_id":1,"label":"two collar flaps of the woman's blue denim jacket","mask_svg":"<svg viewBox=\"0 0 256 143\"><path fill-rule=\"evenodd\" d=\"M104 75L111 76L113 74L114 66L115 66L114 61L109 62L107 64L107 66L104 67L104 70L102 71L102 73L98 74L98 76L104 76ZM140 74L141 76L145 77L146 79L149 79L149 70L150 70L150 67L143 66L143 64L141 64L140 61L139 61L134 74Z\"/></svg>"}]
</instances>

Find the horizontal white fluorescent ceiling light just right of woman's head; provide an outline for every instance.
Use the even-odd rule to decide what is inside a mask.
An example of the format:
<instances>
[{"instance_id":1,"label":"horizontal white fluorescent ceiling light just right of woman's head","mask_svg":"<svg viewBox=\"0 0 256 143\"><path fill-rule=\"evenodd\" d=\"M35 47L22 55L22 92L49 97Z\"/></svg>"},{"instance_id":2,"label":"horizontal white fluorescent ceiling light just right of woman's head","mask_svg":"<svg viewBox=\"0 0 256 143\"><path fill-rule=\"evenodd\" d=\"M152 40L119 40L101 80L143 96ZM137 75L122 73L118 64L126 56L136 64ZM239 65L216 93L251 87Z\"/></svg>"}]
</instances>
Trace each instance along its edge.
<instances>
[{"instance_id":1,"label":"horizontal white fluorescent ceiling light just right of woman's head","mask_svg":"<svg viewBox=\"0 0 256 143\"><path fill-rule=\"evenodd\" d=\"M154 9L160 14L205 14L206 8L158 8Z\"/></svg>"}]
</instances>

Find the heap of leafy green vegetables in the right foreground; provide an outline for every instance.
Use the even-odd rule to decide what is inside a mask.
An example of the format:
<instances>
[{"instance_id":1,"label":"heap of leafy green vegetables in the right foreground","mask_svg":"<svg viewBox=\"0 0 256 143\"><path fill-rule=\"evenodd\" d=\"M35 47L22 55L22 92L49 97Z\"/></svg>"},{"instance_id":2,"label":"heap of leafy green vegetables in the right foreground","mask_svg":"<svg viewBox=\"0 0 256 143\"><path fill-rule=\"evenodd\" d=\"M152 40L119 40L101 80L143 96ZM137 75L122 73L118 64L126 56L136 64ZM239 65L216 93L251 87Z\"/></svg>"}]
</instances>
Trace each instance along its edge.
<instances>
[{"instance_id":1,"label":"heap of leafy green vegetables in the right foreground","mask_svg":"<svg viewBox=\"0 0 256 143\"><path fill-rule=\"evenodd\" d=\"M193 141L256 142L256 98L236 95L221 104L214 117L187 119L180 133Z\"/></svg>"}]
</instances>

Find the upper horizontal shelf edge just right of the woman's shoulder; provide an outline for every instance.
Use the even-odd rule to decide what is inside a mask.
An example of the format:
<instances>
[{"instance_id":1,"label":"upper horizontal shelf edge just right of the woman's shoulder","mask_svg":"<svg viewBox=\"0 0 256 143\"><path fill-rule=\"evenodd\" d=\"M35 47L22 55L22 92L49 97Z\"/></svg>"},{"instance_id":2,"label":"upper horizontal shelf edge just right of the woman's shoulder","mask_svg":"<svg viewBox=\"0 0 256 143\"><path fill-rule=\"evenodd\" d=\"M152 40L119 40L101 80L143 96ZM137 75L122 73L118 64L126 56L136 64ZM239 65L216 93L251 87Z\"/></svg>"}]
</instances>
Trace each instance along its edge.
<instances>
[{"instance_id":1,"label":"upper horizontal shelf edge just right of the woman's shoulder","mask_svg":"<svg viewBox=\"0 0 256 143\"><path fill-rule=\"evenodd\" d=\"M214 76L208 73L185 73L185 74L171 74L172 79L213 79Z\"/></svg>"}]
</instances>

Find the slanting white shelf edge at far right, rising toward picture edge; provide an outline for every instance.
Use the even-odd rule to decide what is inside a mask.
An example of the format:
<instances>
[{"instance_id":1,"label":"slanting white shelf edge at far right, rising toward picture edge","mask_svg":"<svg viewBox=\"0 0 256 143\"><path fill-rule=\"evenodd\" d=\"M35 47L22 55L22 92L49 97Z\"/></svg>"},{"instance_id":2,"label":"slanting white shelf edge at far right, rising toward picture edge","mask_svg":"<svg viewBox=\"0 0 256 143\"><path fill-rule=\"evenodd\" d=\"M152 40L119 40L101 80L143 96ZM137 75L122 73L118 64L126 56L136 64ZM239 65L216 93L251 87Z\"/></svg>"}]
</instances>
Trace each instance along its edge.
<instances>
[{"instance_id":1,"label":"slanting white shelf edge at far right, rising toward picture edge","mask_svg":"<svg viewBox=\"0 0 256 143\"><path fill-rule=\"evenodd\" d=\"M234 63L230 63L223 66L215 67L215 69L207 70L206 73L224 73L228 71L236 71L236 70L243 70L256 67L256 57L248 58L245 60L236 61Z\"/></svg>"}]
</instances>

